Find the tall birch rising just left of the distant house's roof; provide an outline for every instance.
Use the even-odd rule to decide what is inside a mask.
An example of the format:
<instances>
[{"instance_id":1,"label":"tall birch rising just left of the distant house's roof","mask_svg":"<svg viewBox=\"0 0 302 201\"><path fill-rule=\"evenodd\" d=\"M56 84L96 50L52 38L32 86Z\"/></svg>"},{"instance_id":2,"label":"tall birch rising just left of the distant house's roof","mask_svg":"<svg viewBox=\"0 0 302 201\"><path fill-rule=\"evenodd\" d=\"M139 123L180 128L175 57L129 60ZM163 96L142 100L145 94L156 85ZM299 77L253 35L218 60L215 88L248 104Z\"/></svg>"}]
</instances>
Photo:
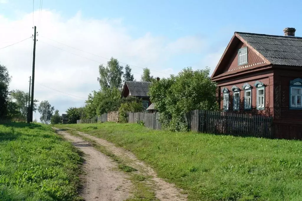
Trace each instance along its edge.
<instances>
[{"instance_id":1,"label":"tall birch rising just left of the distant house's roof","mask_svg":"<svg viewBox=\"0 0 302 201\"><path fill-rule=\"evenodd\" d=\"M101 64L98 70L100 73L98 82L100 83L101 90L107 88L120 89L122 87L123 66L119 64L117 59L111 57L110 61L107 62L107 66L104 67Z\"/></svg>"}]
</instances>

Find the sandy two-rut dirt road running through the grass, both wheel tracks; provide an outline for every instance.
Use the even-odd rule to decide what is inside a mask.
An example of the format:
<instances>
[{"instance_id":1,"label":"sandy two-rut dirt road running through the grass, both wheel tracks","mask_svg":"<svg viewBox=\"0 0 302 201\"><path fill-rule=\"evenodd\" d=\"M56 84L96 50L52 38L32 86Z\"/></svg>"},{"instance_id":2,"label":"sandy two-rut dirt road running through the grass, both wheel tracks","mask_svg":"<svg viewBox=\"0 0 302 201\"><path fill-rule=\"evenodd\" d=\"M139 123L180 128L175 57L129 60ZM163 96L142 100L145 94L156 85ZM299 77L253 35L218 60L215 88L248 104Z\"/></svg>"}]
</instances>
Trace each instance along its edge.
<instances>
[{"instance_id":1,"label":"sandy two-rut dirt road running through the grass, both wheel tracks","mask_svg":"<svg viewBox=\"0 0 302 201\"><path fill-rule=\"evenodd\" d=\"M86 200L124 200L131 196L130 189L132 184L127 180L127 175L123 172L113 170L114 167L117 167L116 162L95 150L88 142L83 141L82 138L72 136L68 132L59 129L56 130L87 155L84 157L87 161L84 164L84 171L87 172L87 175L85 175L87 182L83 187L82 193L82 196ZM180 193L181 189L157 177L156 172L152 168L138 160L131 152L124 148L116 147L113 143L104 139L82 132L78 132L78 134L93 140L98 145L104 146L114 155L128 161L128 165L136 168L140 174L151 177L152 184L150 183L150 185L153 186L157 199L167 201L187 200L187 196Z\"/></svg>"}]
</instances>

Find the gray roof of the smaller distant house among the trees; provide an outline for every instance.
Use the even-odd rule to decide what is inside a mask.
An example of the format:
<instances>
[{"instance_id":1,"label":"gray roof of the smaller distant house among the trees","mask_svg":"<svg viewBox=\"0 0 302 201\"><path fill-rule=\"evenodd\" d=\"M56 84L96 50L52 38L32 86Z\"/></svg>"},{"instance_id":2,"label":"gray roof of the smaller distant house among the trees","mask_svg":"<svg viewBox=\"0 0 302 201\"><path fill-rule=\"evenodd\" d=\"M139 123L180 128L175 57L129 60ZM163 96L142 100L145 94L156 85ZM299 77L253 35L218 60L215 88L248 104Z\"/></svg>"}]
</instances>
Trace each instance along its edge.
<instances>
[{"instance_id":1,"label":"gray roof of the smaller distant house among the trees","mask_svg":"<svg viewBox=\"0 0 302 201\"><path fill-rule=\"evenodd\" d=\"M131 96L149 97L149 86L152 82L126 81Z\"/></svg>"}]
</instances>

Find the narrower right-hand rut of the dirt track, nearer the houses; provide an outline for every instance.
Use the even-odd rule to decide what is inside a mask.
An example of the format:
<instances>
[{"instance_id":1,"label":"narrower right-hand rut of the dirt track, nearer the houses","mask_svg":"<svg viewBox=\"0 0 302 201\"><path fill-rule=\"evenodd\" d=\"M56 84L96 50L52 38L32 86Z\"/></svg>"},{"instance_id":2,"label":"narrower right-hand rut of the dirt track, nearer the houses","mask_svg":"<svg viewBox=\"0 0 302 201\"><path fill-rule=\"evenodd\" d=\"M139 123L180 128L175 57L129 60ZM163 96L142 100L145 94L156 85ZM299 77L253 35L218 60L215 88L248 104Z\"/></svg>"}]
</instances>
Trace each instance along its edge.
<instances>
[{"instance_id":1,"label":"narrower right-hand rut of the dirt track, nearer the houses","mask_svg":"<svg viewBox=\"0 0 302 201\"><path fill-rule=\"evenodd\" d=\"M95 136L91 136L83 132L77 132L79 135L92 139L99 145L106 147L106 149L108 149L113 154L130 161L131 166L137 168L141 174L144 174L146 176L152 176L151 179L154 182L155 194L157 199L166 201L187 200L187 195L180 193L182 191L181 189L176 188L174 184L168 183L165 180L157 177L156 172L152 168L150 168L144 162L138 160L136 156L130 151L127 151L126 149L121 147L116 147L113 143L108 142L107 140L97 138Z\"/></svg>"}]
</instances>

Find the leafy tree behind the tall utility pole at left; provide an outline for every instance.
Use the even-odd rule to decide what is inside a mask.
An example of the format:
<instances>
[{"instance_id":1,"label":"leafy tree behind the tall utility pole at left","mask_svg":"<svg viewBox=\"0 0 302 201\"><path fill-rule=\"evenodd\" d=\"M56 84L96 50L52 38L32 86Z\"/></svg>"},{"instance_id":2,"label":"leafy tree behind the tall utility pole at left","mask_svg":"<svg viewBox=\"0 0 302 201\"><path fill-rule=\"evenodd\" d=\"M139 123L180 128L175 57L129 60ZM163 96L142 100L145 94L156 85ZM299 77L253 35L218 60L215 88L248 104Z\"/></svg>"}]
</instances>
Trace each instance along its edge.
<instances>
[{"instance_id":1,"label":"leafy tree behind the tall utility pole at left","mask_svg":"<svg viewBox=\"0 0 302 201\"><path fill-rule=\"evenodd\" d=\"M27 99L26 99L26 97L27 97ZM31 97L29 97L28 92L25 93L24 91L21 91L18 89L12 90L11 94L10 94L10 100L17 104L18 110L24 119L26 119L26 116L27 116L26 105L28 104L28 98L31 99ZM34 100L34 112L36 112L36 110L37 110L37 102L38 102L38 100L35 99Z\"/></svg>"}]
</instances>

